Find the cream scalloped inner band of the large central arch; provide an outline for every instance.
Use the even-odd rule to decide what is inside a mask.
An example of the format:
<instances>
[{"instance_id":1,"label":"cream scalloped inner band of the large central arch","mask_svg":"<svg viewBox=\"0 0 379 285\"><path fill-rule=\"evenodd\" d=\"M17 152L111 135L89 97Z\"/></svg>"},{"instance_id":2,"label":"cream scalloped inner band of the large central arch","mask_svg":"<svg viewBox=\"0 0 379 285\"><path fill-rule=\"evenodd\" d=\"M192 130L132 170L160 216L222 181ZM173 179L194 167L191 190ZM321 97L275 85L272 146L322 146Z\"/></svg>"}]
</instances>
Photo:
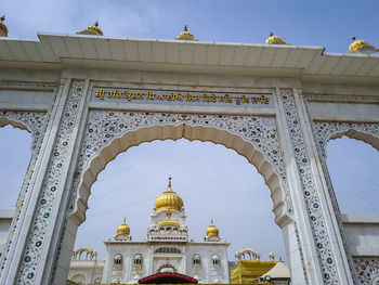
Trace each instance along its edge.
<instances>
[{"instance_id":1,"label":"cream scalloped inner band of the large central arch","mask_svg":"<svg viewBox=\"0 0 379 285\"><path fill-rule=\"evenodd\" d=\"M110 160L115 159L119 153L143 142L168 139L178 140L182 138L190 141L199 140L202 142L209 141L215 144L222 144L246 157L250 164L257 167L258 172L263 176L265 183L271 190L275 222L280 226L280 224L288 221L289 217L286 212L285 202L286 193L282 186L283 182L280 182L280 177L275 171L275 165L273 165L261 151L257 150L253 143L228 130L188 124L166 124L141 127L114 138L106 145L97 150L87 166L83 167L80 178L77 178L78 197L76 197L71 217L75 218L78 223L86 220L90 187L95 182L97 174Z\"/></svg>"}]
</instances>

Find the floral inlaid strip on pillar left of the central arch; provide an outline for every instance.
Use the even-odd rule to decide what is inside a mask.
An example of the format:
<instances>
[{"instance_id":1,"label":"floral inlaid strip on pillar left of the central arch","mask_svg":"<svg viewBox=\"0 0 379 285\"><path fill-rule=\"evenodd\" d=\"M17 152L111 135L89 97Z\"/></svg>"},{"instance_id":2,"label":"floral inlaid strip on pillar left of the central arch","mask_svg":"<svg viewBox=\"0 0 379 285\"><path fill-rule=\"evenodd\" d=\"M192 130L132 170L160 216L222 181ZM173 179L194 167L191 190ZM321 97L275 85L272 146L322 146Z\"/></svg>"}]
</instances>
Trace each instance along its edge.
<instances>
[{"instance_id":1,"label":"floral inlaid strip on pillar left of the central arch","mask_svg":"<svg viewBox=\"0 0 379 285\"><path fill-rule=\"evenodd\" d=\"M73 82L66 106L63 112L57 138L53 147L47 176L42 185L38 208L32 229L29 233L27 246L21 264L17 283L34 284L36 270L42 251L50 215L53 208L55 193L61 181L63 166L68 151L69 141L77 119L77 108L82 95L82 82Z\"/></svg>"}]
</instances>

